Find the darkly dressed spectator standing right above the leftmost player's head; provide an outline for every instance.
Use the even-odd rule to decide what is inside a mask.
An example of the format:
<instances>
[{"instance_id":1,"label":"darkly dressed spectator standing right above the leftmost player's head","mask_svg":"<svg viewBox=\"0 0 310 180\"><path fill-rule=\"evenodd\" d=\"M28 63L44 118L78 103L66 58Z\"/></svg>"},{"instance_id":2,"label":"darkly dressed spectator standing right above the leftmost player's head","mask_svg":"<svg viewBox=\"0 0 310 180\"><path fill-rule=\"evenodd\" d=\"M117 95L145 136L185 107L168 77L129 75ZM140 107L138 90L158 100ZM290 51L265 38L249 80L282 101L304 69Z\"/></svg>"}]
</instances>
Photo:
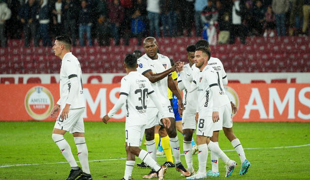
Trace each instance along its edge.
<instances>
[{"instance_id":1,"label":"darkly dressed spectator standing right above the leftmost player's head","mask_svg":"<svg viewBox=\"0 0 310 180\"><path fill-rule=\"evenodd\" d=\"M63 26L64 31L70 36L73 46L76 46L77 41L77 15L78 5L74 0L66 0L63 10Z\"/></svg>"}]
</instances>

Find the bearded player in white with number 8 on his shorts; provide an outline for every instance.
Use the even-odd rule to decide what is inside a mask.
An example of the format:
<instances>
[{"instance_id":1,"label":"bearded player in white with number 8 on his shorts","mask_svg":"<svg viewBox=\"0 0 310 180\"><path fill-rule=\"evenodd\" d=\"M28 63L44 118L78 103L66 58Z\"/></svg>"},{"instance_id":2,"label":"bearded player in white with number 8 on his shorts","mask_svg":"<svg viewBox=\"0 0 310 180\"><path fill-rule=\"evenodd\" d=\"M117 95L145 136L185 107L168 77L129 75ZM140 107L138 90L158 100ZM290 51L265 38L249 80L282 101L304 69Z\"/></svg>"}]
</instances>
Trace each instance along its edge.
<instances>
[{"instance_id":1,"label":"bearded player in white with number 8 on his shorts","mask_svg":"<svg viewBox=\"0 0 310 180\"><path fill-rule=\"evenodd\" d=\"M208 149L213 151L219 156L226 164L226 175L229 177L235 166L236 162L230 160L227 155L210 140L213 134L214 122L219 119L218 104L222 100L222 91L220 91L217 83L217 75L211 67L208 66L210 59L210 50L204 47L198 48L195 51L195 65L199 68L200 72L193 76L193 83L190 83L186 78L183 78L186 88L189 92L197 89L197 99L199 99L197 112L199 113L197 123L197 144L198 144L198 161L199 169L193 176L187 177L187 180L205 179L206 176L206 162L208 157ZM185 73L183 64L178 65L180 74ZM183 75L184 76L184 75Z\"/></svg>"}]
</instances>

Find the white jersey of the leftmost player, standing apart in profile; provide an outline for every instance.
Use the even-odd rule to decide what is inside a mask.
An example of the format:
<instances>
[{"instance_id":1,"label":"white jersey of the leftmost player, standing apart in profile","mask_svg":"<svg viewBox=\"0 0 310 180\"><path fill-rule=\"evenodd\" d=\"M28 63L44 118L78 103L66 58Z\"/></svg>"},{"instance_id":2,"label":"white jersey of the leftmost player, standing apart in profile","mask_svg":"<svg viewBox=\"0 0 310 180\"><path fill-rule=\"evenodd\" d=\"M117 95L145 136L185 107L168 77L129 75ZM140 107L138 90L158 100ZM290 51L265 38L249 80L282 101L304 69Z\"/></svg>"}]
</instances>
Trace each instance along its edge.
<instances>
[{"instance_id":1,"label":"white jersey of the leftmost player, standing apart in profile","mask_svg":"<svg viewBox=\"0 0 310 180\"><path fill-rule=\"evenodd\" d=\"M78 83L71 84L70 79L77 77ZM60 99L57 104L64 108L65 104L70 104L70 109L78 109L85 107L85 100L83 94L82 84L82 70L78 62L78 58L75 57L72 52L66 53L62 58L62 67L60 69ZM71 86L75 85L78 88L76 92L70 92ZM72 102L69 102L69 94L76 93L72 98Z\"/></svg>"}]
</instances>

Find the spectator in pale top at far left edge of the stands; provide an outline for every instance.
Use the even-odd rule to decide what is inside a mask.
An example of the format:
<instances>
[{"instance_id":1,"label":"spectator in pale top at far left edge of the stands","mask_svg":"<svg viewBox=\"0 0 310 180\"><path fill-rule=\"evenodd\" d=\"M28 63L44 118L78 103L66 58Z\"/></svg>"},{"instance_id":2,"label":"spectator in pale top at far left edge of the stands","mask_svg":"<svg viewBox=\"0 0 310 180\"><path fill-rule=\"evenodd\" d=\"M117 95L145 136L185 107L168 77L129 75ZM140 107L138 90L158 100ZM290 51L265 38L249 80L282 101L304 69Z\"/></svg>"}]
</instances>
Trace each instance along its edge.
<instances>
[{"instance_id":1,"label":"spectator in pale top at far left edge of the stands","mask_svg":"<svg viewBox=\"0 0 310 180\"><path fill-rule=\"evenodd\" d=\"M0 0L0 41L1 47L6 47L7 36L5 34L5 21L11 18L11 10L8 8L7 4Z\"/></svg>"}]
</instances>

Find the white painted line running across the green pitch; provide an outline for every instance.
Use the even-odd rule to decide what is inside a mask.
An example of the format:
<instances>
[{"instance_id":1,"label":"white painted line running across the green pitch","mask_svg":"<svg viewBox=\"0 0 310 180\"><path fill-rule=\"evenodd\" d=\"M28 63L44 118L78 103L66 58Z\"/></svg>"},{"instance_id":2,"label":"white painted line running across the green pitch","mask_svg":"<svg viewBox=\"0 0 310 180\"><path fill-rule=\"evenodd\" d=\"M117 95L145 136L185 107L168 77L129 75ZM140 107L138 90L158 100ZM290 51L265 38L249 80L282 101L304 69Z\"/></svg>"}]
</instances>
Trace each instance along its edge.
<instances>
[{"instance_id":1,"label":"white painted line running across the green pitch","mask_svg":"<svg viewBox=\"0 0 310 180\"><path fill-rule=\"evenodd\" d=\"M310 144L307 145L299 145L299 146L284 146L284 147L253 147L253 148L244 148L244 149L279 149L279 148L292 148L292 147L306 147L310 146ZM223 150L223 151L234 151L235 149L230 150ZM184 154L181 154L184 155ZM157 156L157 157L164 157L165 155ZM102 159L102 160L91 160L89 162L98 162L98 161L117 161L117 160L125 160L126 158L116 158L116 159ZM11 164L11 165L2 165L2 167L13 167L13 166L24 166L24 165L43 165L43 164L63 164L68 162L58 162L58 163L36 163L36 164Z\"/></svg>"}]
</instances>

